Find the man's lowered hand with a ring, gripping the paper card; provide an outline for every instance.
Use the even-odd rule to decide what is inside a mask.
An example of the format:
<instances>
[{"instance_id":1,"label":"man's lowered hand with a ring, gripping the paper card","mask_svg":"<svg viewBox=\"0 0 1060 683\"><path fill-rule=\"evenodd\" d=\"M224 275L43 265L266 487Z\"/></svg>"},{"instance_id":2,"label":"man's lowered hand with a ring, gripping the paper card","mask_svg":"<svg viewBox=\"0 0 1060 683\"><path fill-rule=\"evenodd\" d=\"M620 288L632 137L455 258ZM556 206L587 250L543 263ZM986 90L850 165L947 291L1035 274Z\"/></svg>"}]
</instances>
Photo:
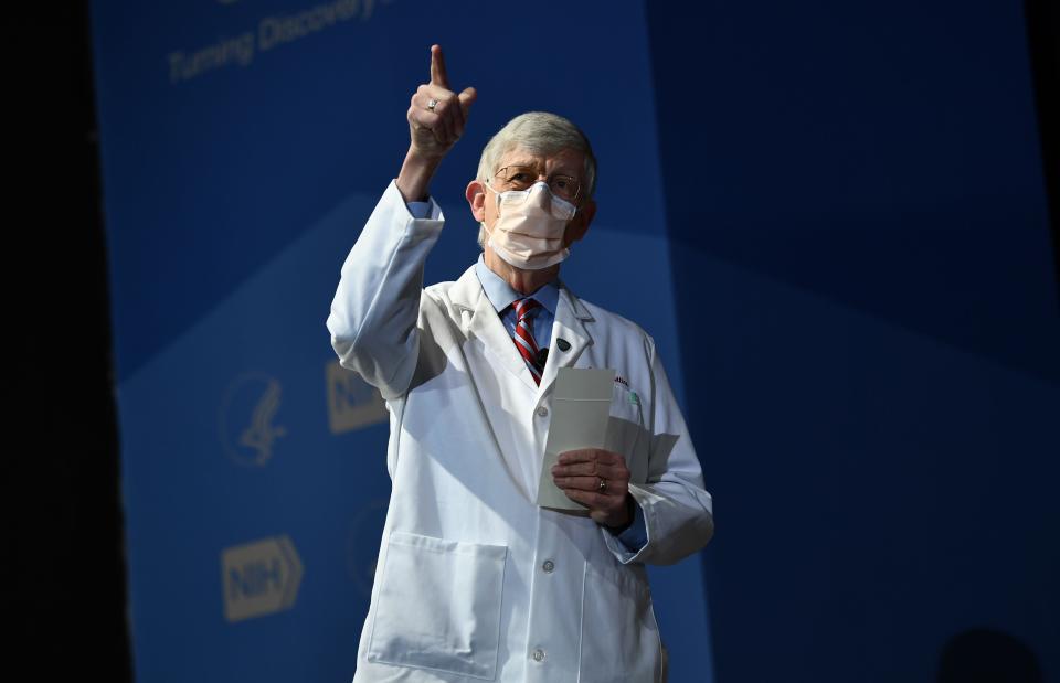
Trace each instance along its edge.
<instances>
[{"instance_id":1,"label":"man's lowered hand with a ring, gripping the paper card","mask_svg":"<svg viewBox=\"0 0 1060 683\"><path fill-rule=\"evenodd\" d=\"M552 468L552 481L569 499L587 505L597 524L618 529L629 523L629 468L621 455L602 448L568 450Z\"/></svg>"}]
</instances>

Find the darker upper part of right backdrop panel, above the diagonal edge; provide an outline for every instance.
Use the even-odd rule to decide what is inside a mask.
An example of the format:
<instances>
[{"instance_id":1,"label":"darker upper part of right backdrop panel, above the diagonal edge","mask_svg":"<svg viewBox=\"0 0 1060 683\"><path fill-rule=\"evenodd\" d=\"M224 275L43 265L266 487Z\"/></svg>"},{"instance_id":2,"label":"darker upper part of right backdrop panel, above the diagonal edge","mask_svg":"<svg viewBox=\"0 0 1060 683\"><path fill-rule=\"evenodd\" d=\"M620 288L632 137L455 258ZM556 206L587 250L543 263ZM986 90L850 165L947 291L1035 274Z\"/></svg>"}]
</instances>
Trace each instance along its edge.
<instances>
[{"instance_id":1,"label":"darker upper part of right backdrop panel, above the diagonal edge","mask_svg":"<svg viewBox=\"0 0 1060 683\"><path fill-rule=\"evenodd\" d=\"M1021 8L697 8L648 6L674 248L1060 385Z\"/></svg>"}]
</instances>

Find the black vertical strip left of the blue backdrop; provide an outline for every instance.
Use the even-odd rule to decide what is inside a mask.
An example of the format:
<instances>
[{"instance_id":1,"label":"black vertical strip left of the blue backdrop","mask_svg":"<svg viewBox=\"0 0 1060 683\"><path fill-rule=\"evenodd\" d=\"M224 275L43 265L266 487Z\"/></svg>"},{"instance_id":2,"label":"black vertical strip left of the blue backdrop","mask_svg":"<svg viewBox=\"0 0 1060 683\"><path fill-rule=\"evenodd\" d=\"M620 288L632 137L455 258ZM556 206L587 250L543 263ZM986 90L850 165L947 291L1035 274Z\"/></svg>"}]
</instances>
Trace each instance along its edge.
<instances>
[{"instance_id":1,"label":"black vertical strip left of the blue backdrop","mask_svg":"<svg viewBox=\"0 0 1060 683\"><path fill-rule=\"evenodd\" d=\"M87 2L11 25L6 668L120 683L132 674Z\"/></svg>"}]
</instances>

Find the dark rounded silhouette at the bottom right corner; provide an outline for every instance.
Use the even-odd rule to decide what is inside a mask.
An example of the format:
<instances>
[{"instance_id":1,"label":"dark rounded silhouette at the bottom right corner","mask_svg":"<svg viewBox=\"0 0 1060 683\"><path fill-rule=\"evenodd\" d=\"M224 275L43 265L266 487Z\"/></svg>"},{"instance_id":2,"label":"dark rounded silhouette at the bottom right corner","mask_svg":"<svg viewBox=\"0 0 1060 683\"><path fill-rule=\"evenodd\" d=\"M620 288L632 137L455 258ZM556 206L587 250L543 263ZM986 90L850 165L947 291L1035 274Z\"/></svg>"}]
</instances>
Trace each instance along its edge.
<instances>
[{"instance_id":1,"label":"dark rounded silhouette at the bottom right corner","mask_svg":"<svg viewBox=\"0 0 1060 683\"><path fill-rule=\"evenodd\" d=\"M1008 633L971 629L942 649L937 683L1042 683L1038 658Z\"/></svg>"}]
</instances>

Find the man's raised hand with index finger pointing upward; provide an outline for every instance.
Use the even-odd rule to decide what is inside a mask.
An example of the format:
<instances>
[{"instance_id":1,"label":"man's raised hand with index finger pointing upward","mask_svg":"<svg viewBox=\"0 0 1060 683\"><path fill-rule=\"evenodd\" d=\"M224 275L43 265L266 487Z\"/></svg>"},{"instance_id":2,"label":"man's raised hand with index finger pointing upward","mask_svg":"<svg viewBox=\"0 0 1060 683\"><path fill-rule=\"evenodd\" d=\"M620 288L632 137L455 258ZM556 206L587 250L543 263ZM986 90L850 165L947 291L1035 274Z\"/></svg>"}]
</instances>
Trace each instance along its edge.
<instances>
[{"instance_id":1,"label":"man's raised hand with index finger pointing upward","mask_svg":"<svg viewBox=\"0 0 1060 683\"><path fill-rule=\"evenodd\" d=\"M437 159L453 148L467 124L467 111L475 102L475 88L459 95L449 89L442 47L431 46L431 82L416 88L409 107L410 153Z\"/></svg>"}]
</instances>

